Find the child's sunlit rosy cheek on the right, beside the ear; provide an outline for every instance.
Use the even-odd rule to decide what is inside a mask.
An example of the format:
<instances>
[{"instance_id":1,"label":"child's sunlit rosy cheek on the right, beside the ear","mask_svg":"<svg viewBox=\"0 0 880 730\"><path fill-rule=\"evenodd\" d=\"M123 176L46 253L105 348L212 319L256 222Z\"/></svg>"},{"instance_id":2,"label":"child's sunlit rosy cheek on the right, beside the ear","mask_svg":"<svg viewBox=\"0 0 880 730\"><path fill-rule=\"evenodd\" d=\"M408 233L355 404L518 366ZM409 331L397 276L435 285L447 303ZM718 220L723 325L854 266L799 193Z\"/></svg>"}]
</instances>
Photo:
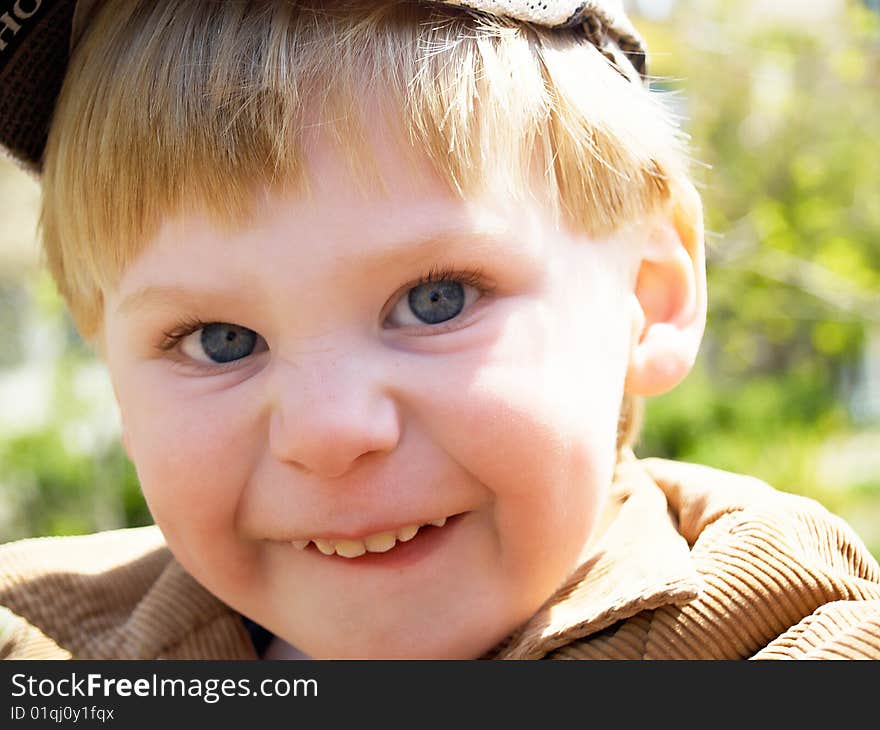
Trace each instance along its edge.
<instances>
[{"instance_id":1,"label":"child's sunlit rosy cheek on the right, beside the ear","mask_svg":"<svg viewBox=\"0 0 880 730\"><path fill-rule=\"evenodd\" d=\"M492 493L503 551L559 571L577 557L611 481L626 340L602 321L576 330L549 311L511 321L491 350L437 373L419 418Z\"/></svg>"}]
</instances>

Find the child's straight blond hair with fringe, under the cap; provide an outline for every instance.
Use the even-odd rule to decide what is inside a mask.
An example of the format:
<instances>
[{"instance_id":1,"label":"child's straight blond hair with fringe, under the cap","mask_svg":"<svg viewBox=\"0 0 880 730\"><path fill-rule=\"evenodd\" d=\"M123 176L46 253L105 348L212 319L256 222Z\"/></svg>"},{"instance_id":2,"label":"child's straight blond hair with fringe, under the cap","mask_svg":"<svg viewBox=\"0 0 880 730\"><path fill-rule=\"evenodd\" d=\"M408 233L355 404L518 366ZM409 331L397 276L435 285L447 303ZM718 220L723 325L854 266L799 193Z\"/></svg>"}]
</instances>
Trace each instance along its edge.
<instances>
[{"instance_id":1,"label":"child's straight blond hair with fringe, under the cap","mask_svg":"<svg viewBox=\"0 0 880 730\"><path fill-rule=\"evenodd\" d=\"M315 120L369 168L372 91L457 194L490 168L518 194L537 161L554 216L591 235L685 175L656 95L577 29L406 0L114 0L71 59L43 167L44 252L83 336L164 216L192 206L234 226L262 187L306 191Z\"/></svg>"}]
</instances>

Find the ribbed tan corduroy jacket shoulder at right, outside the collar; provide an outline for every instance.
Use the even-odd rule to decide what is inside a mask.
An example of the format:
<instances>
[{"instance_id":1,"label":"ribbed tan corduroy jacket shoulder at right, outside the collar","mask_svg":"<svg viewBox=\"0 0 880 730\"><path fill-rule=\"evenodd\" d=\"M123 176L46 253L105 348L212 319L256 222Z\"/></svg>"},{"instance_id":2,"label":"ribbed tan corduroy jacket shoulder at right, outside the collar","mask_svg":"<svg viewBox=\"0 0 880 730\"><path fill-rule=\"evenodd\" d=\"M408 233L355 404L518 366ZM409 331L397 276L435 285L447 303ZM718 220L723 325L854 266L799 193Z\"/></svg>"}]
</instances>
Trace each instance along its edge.
<instances>
[{"instance_id":1,"label":"ribbed tan corduroy jacket shoulder at right, outside the collar","mask_svg":"<svg viewBox=\"0 0 880 730\"><path fill-rule=\"evenodd\" d=\"M703 588L548 658L880 659L880 568L846 523L748 477L654 459L642 466L692 545Z\"/></svg>"}]
</instances>

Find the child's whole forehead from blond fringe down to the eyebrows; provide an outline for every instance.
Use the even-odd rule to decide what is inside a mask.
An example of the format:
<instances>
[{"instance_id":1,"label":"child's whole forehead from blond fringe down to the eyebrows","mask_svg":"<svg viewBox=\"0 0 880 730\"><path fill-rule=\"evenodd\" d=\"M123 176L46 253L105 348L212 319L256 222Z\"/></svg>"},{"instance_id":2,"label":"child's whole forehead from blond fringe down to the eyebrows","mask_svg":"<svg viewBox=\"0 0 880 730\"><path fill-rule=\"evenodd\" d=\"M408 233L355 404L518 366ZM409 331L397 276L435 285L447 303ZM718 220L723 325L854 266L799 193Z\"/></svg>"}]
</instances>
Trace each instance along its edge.
<instances>
[{"instance_id":1,"label":"child's whole forehead from blond fringe down to the eyebrows","mask_svg":"<svg viewBox=\"0 0 880 730\"><path fill-rule=\"evenodd\" d=\"M617 235L560 224L540 186L513 190L503 167L462 194L393 118L367 115L363 134L354 148L340 145L332 127L310 127L308 190L262 189L237 227L219 227L204 211L166 219L107 304L123 314L163 303L198 307L239 301L233 289L247 288L271 309L294 290L311 301L331 282L335 292L356 292L439 265L504 271L511 282L556 271L555 281L581 286L585 264L598 284L599 272L622 271L630 258Z\"/></svg>"}]
</instances>

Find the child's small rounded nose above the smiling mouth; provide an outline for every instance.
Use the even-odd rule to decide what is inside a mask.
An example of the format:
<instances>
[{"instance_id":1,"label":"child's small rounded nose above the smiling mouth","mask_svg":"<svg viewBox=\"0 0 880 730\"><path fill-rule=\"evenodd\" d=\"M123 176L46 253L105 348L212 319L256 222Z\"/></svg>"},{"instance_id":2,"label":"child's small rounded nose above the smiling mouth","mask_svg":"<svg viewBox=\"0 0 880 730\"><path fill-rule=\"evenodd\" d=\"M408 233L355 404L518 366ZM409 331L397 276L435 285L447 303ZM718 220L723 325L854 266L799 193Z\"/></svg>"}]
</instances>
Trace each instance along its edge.
<instances>
[{"instance_id":1,"label":"child's small rounded nose above the smiling mouth","mask_svg":"<svg viewBox=\"0 0 880 730\"><path fill-rule=\"evenodd\" d=\"M367 362L311 354L279 364L274 375L269 445L279 461L329 479L398 444L397 405Z\"/></svg>"}]
</instances>

